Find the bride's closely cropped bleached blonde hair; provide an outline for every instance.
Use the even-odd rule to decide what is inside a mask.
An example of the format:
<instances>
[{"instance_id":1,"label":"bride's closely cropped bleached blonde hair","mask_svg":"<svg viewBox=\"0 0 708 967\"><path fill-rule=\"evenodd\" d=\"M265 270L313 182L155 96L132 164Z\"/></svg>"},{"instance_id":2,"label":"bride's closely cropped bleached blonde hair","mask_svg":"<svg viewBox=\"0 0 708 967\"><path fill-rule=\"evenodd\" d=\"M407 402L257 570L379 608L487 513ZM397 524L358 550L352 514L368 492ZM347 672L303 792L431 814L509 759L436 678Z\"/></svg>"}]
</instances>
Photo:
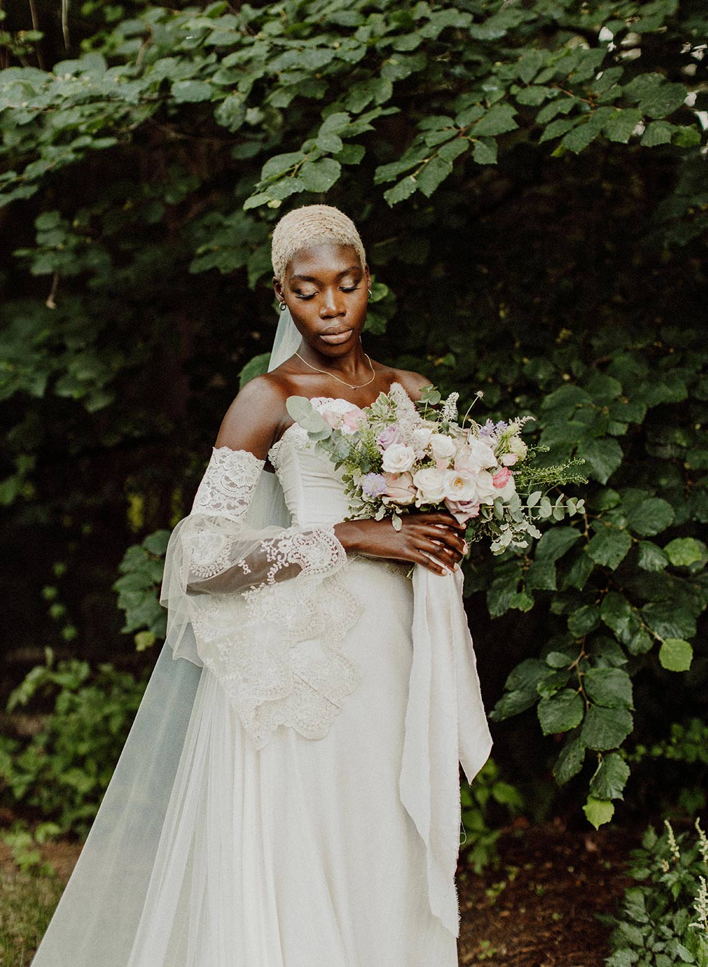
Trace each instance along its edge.
<instances>
[{"instance_id":1,"label":"bride's closely cropped bleached blonde hair","mask_svg":"<svg viewBox=\"0 0 708 967\"><path fill-rule=\"evenodd\" d=\"M351 246L362 263L367 253L354 222L334 205L303 205L283 215L273 231L271 260L273 274L283 280L287 263L296 251L323 242Z\"/></svg>"}]
</instances>

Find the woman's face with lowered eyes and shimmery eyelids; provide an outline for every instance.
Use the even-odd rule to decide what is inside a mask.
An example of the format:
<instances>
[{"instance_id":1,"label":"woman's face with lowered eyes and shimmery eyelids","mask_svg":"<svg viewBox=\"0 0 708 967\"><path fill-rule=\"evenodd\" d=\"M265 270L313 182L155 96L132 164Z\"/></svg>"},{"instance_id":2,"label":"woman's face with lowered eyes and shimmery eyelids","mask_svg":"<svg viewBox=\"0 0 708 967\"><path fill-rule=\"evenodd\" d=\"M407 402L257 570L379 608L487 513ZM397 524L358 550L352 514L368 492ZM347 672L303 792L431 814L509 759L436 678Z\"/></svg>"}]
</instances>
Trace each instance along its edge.
<instances>
[{"instance_id":1,"label":"woman's face with lowered eyes and shimmery eyelids","mask_svg":"<svg viewBox=\"0 0 708 967\"><path fill-rule=\"evenodd\" d=\"M296 252L274 288L312 349L337 358L359 341L369 283L369 267L362 267L356 249L326 242Z\"/></svg>"}]
</instances>

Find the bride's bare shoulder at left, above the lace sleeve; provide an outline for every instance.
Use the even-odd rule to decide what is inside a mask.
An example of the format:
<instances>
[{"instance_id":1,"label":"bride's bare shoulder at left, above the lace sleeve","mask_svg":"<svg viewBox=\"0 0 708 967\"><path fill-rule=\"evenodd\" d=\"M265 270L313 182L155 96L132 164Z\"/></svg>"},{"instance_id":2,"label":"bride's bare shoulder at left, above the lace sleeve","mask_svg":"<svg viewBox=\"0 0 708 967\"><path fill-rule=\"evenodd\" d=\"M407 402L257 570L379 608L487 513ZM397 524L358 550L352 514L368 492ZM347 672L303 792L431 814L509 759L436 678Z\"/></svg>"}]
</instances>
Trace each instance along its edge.
<instances>
[{"instance_id":1,"label":"bride's bare shoulder at left, above the lace sleeve","mask_svg":"<svg viewBox=\"0 0 708 967\"><path fill-rule=\"evenodd\" d=\"M271 373L255 376L234 397L221 420L217 447L249 450L265 459L286 417L287 393Z\"/></svg>"}]
</instances>

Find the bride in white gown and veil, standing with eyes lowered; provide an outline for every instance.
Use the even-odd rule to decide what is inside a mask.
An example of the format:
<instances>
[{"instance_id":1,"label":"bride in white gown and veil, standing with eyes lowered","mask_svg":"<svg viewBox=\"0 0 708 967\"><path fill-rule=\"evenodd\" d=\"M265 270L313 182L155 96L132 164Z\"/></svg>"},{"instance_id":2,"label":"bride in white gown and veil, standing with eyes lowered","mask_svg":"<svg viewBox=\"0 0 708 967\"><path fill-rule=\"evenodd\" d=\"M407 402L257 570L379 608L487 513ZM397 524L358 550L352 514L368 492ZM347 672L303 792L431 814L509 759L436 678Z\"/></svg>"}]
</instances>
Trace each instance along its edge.
<instances>
[{"instance_id":1,"label":"bride in white gown and veil, standing with eyes lowered","mask_svg":"<svg viewBox=\"0 0 708 967\"><path fill-rule=\"evenodd\" d=\"M162 578L167 636L34 967L451 967L459 772L491 747L448 513L347 521L323 415L424 376L364 351L353 222L278 222L269 372L229 406ZM407 576L414 564L413 580Z\"/></svg>"}]
</instances>

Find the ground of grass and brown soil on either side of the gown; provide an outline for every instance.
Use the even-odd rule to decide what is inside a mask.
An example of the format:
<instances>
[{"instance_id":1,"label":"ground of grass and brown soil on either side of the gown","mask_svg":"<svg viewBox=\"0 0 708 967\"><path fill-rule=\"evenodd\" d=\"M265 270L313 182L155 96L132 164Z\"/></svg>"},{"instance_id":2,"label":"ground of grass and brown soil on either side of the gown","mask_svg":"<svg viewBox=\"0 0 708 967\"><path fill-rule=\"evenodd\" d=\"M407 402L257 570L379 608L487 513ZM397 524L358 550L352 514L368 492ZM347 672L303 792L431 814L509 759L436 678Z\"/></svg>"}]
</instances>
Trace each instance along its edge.
<instances>
[{"instance_id":1,"label":"ground of grass and brown soil on either side of the gown","mask_svg":"<svg viewBox=\"0 0 708 967\"><path fill-rule=\"evenodd\" d=\"M638 829L578 832L560 820L539 826L520 820L499 839L496 870L477 875L462 855L461 967L604 967L607 931L593 915L614 912L633 882L626 859L640 835ZM55 875L30 875L16 869L0 842L0 967L29 967L79 851L69 841L47 843L43 859Z\"/></svg>"}]
</instances>

